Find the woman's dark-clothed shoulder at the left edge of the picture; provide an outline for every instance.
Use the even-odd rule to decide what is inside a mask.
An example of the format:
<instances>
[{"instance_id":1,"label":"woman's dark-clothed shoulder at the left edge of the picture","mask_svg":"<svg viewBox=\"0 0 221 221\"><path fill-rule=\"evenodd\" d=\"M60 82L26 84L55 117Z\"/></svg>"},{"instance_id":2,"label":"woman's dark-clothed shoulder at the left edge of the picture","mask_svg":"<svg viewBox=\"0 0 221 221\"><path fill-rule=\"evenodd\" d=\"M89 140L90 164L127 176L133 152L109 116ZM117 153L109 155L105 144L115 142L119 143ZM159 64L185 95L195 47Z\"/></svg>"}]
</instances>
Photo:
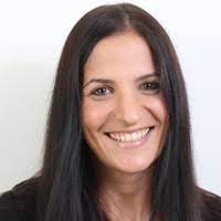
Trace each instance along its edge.
<instances>
[{"instance_id":1,"label":"woman's dark-clothed shoulder at the left edge of the picture","mask_svg":"<svg viewBox=\"0 0 221 221\"><path fill-rule=\"evenodd\" d=\"M0 221L34 221L35 185L25 180L0 194Z\"/></svg>"}]
</instances>

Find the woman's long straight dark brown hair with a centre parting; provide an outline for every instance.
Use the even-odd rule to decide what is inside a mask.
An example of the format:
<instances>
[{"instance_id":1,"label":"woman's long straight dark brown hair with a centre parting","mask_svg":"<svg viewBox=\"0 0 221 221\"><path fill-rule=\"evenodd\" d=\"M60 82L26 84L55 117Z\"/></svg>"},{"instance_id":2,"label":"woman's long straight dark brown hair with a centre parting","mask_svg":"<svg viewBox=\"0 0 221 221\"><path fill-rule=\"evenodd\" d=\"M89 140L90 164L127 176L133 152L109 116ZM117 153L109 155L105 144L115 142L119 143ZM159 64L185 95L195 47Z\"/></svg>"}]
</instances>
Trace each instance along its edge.
<instances>
[{"instance_id":1,"label":"woman's long straight dark brown hair with a centre parting","mask_svg":"<svg viewBox=\"0 0 221 221\"><path fill-rule=\"evenodd\" d=\"M155 161L151 221L201 221L185 81L172 43L158 21L131 3L97 7L74 25L62 51L45 131L43 166L35 183L35 220L108 220L97 200L93 152L82 129L83 69L102 39L136 31L150 46L170 126ZM29 181L30 182L30 181ZM31 183L31 182L30 182Z\"/></svg>"}]
</instances>

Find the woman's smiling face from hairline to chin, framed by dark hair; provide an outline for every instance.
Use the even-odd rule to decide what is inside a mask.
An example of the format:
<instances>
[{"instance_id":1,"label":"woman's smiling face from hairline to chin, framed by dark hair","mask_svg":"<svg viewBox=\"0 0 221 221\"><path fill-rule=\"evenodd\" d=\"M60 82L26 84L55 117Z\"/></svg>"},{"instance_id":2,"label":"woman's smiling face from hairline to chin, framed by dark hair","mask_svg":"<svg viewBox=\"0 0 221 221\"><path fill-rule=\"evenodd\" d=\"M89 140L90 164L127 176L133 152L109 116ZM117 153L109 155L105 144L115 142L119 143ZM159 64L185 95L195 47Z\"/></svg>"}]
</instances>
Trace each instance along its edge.
<instances>
[{"instance_id":1,"label":"woman's smiling face from hairline to chin, framed by dark hair","mask_svg":"<svg viewBox=\"0 0 221 221\"><path fill-rule=\"evenodd\" d=\"M104 168L148 169L161 151L168 112L146 42L135 32L101 40L83 87L84 135Z\"/></svg>"}]
</instances>

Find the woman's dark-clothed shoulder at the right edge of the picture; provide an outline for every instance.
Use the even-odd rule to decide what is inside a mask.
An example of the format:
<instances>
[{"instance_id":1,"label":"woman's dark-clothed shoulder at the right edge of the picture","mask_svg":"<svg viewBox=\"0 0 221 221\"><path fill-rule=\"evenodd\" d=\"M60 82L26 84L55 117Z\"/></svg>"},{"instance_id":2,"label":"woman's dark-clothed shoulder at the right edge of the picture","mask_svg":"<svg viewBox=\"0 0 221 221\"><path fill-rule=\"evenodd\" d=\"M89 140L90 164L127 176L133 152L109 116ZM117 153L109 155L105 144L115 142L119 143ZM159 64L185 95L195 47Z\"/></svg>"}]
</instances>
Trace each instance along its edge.
<instances>
[{"instance_id":1,"label":"woman's dark-clothed shoulder at the right edge of the picture","mask_svg":"<svg viewBox=\"0 0 221 221\"><path fill-rule=\"evenodd\" d=\"M202 213L206 221L221 220L221 197L206 189L200 189Z\"/></svg>"}]
</instances>

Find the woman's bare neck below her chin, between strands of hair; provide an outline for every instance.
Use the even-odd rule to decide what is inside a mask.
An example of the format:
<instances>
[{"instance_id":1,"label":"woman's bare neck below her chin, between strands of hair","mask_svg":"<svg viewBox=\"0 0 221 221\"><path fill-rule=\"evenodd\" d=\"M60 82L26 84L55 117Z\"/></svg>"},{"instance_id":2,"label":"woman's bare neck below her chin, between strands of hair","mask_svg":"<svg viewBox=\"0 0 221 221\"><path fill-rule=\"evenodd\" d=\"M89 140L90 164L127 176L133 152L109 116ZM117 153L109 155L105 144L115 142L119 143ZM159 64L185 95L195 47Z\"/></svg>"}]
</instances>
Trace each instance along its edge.
<instances>
[{"instance_id":1,"label":"woman's bare neck below her chin, between strands of hair","mask_svg":"<svg viewBox=\"0 0 221 221\"><path fill-rule=\"evenodd\" d=\"M101 168L101 167L99 167ZM150 215L152 168L134 173L99 169L99 200L110 220L143 221Z\"/></svg>"}]
</instances>

